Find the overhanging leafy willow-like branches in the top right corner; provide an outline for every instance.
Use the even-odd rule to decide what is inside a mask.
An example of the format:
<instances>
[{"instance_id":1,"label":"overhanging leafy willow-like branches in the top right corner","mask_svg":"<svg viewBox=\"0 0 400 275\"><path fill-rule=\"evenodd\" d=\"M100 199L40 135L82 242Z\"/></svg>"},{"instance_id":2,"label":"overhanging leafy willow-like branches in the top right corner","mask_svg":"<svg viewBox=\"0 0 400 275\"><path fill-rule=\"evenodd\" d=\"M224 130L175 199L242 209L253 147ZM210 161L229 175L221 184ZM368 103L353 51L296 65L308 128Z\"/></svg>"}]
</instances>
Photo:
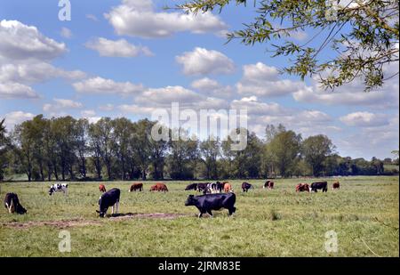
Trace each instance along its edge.
<instances>
[{"instance_id":1,"label":"overhanging leafy willow-like branches in the top right corner","mask_svg":"<svg viewBox=\"0 0 400 275\"><path fill-rule=\"evenodd\" d=\"M192 13L221 11L232 2L254 3L258 15L229 33L228 41L266 43L274 57L292 56L293 63L283 69L289 74L320 77L331 88L359 77L366 90L398 74L384 68L399 58L397 0L189 0L178 7ZM296 44L290 38L301 31L312 37Z\"/></svg>"}]
</instances>

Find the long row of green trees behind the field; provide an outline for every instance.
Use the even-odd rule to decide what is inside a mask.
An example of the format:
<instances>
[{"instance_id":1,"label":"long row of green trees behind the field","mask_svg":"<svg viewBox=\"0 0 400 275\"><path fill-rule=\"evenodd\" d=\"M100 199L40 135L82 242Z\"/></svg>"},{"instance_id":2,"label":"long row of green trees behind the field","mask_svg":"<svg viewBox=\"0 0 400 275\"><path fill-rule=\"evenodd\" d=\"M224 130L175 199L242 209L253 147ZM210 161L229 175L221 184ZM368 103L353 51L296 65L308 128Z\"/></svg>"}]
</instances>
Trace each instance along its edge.
<instances>
[{"instance_id":1,"label":"long row of green trees behind the field","mask_svg":"<svg viewBox=\"0 0 400 275\"><path fill-rule=\"evenodd\" d=\"M341 158L325 135L301 135L268 125L264 139L247 133L245 150L231 139L196 141L179 130L178 141L150 138L155 122L103 117L96 123L42 115L16 125L0 124L0 180L27 174L28 181L232 179L388 173L390 158ZM172 133L170 129L164 129ZM171 134L170 134L171 136Z\"/></svg>"}]
</instances>

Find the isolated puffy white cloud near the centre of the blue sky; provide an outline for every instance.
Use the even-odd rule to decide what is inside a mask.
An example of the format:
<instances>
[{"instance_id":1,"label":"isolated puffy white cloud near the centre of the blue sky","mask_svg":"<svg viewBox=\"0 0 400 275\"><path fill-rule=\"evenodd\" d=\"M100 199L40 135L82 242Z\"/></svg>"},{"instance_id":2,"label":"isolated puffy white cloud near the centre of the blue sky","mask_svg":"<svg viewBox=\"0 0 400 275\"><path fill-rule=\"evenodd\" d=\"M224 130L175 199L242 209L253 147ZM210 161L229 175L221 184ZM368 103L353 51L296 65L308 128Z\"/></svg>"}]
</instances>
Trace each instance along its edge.
<instances>
[{"instance_id":1,"label":"isolated puffy white cloud near the centre of the blue sky","mask_svg":"<svg viewBox=\"0 0 400 275\"><path fill-rule=\"evenodd\" d=\"M189 76L231 74L235 71L235 63L225 54L200 47L175 59L183 66L183 73Z\"/></svg>"}]
</instances>

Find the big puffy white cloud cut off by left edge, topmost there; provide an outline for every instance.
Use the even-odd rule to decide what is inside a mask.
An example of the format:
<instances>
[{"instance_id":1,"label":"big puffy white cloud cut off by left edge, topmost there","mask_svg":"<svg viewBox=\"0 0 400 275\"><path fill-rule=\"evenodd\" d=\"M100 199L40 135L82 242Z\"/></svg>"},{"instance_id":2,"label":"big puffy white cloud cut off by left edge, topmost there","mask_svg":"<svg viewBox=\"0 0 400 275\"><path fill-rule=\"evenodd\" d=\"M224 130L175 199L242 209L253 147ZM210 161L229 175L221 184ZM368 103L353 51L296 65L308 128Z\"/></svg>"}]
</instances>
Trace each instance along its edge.
<instances>
[{"instance_id":1,"label":"big puffy white cloud cut off by left edge, topmost there","mask_svg":"<svg viewBox=\"0 0 400 275\"><path fill-rule=\"evenodd\" d=\"M52 60L67 51L63 43L17 20L0 21L0 56L11 60Z\"/></svg>"}]
</instances>

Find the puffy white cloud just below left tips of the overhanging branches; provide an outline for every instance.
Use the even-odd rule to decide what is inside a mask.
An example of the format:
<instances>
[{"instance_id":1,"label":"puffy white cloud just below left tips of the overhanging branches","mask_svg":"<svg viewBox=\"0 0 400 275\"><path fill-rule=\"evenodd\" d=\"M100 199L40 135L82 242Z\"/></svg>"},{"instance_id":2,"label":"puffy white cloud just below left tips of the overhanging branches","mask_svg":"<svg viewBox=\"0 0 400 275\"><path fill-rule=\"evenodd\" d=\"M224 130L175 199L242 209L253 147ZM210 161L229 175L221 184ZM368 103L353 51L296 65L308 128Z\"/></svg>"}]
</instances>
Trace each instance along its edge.
<instances>
[{"instance_id":1,"label":"puffy white cloud just below left tips of the overhanging branches","mask_svg":"<svg viewBox=\"0 0 400 275\"><path fill-rule=\"evenodd\" d=\"M275 67L262 62L244 65L244 76L236 84L237 92L258 97L281 96L298 91L304 84L289 79L281 80Z\"/></svg>"}]
</instances>

